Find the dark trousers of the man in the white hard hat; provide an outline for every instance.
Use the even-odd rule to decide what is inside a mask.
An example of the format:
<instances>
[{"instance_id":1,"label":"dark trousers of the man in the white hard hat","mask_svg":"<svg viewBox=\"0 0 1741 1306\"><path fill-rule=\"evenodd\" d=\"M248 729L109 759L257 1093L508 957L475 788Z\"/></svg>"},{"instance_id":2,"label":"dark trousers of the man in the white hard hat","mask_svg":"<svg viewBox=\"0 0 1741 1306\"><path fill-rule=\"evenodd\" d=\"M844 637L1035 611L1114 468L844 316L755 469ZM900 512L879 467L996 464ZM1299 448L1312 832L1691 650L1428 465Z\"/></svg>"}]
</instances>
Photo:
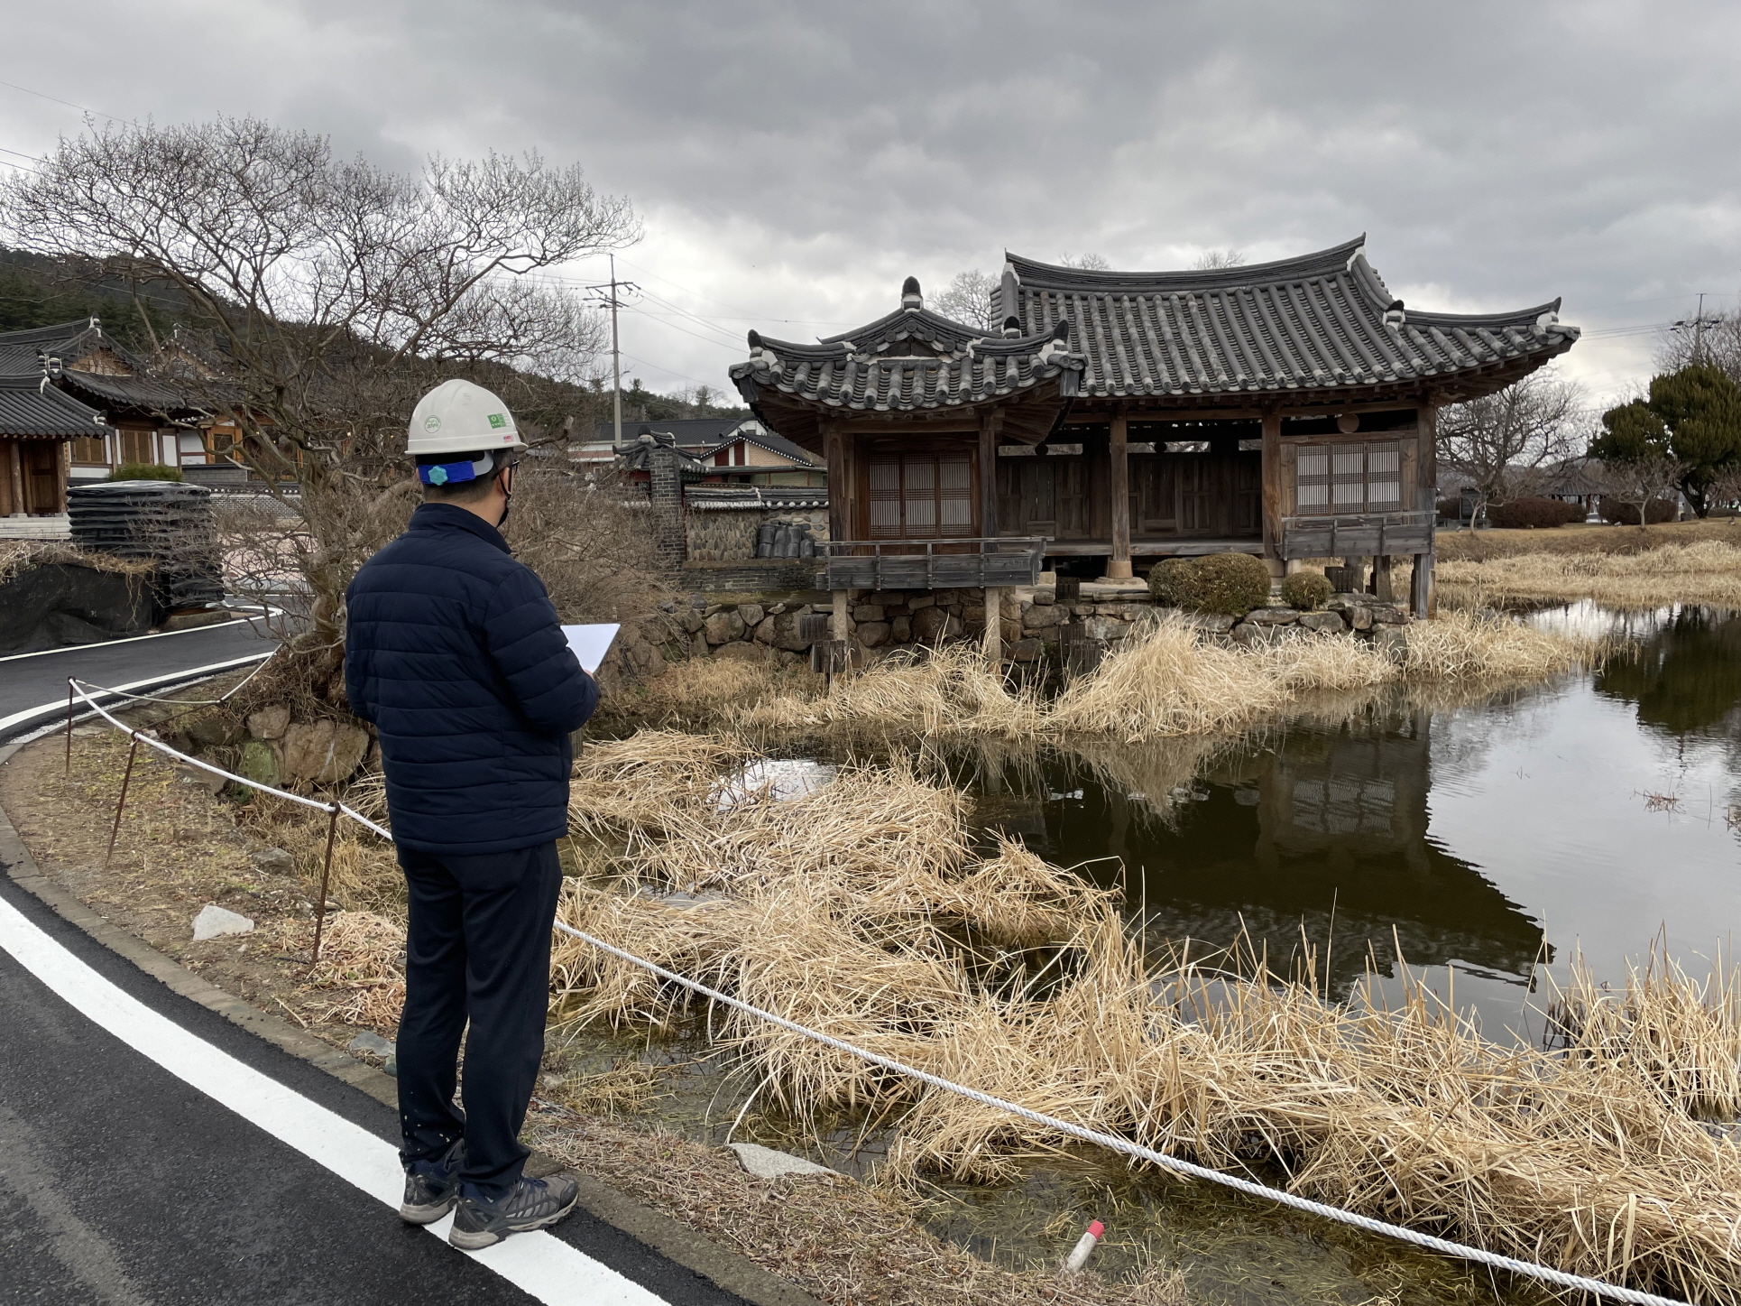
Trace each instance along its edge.
<instances>
[{"instance_id":1,"label":"dark trousers of the man in the white hard hat","mask_svg":"<svg viewBox=\"0 0 1741 1306\"><path fill-rule=\"evenodd\" d=\"M543 1059L550 923L562 888L555 845L446 857L399 850L411 890L406 1010L399 1017L400 1160L432 1160L465 1137L460 1179L486 1198L514 1188ZM460 1033L465 1114L453 1106Z\"/></svg>"}]
</instances>

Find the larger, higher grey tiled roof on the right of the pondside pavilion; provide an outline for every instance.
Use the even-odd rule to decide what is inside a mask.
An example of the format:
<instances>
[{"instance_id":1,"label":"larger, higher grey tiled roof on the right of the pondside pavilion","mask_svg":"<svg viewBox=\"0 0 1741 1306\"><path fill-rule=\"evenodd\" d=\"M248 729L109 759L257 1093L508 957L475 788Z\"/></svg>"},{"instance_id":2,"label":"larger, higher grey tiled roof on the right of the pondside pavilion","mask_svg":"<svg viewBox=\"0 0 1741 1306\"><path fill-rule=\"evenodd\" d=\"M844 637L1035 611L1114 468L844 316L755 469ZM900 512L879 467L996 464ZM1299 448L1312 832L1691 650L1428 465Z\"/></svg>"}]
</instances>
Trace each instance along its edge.
<instances>
[{"instance_id":1,"label":"larger, higher grey tiled roof on the right of the pondside pavilion","mask_svg":"<svg viewBox=\"0 0 1741 1306\"><path fill-rule=\"evenodd\" d=\"M1008 254L998 308L1027 338L1057 322L1086 357L1085 397L1377 390L1483 394L1563 353L1560 301L1429 313L1393 296L1365 237L1316 254L1200 272L1100 272ZM740 364L742 366L742 364Z\"/></svg>"}]
</instances>

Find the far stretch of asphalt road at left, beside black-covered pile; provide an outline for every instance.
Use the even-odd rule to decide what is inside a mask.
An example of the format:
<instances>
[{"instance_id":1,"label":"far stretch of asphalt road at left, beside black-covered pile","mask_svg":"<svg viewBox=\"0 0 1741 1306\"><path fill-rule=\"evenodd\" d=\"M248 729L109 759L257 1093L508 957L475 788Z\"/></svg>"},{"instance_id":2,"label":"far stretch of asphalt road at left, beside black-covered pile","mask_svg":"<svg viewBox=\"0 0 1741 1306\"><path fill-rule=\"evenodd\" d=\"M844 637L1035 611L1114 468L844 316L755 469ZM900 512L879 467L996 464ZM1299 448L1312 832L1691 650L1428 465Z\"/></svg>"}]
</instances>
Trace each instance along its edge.
<instances>
[{"instance_id":1,"label":"far stretch of asphalt road at left, beside black-covered pile","mask_svg":"<svg viewBox=\"0 0 1741 1306\"><path fill-rule=\"evenodd\" d=\"M242 620L0 658L0 742L50 721L56 710L64 712L68 676L92 684L134 684L270 651L273 643L263 622ZM47 710L19 719L31 709Z\"/></svg>"}]
</instances>

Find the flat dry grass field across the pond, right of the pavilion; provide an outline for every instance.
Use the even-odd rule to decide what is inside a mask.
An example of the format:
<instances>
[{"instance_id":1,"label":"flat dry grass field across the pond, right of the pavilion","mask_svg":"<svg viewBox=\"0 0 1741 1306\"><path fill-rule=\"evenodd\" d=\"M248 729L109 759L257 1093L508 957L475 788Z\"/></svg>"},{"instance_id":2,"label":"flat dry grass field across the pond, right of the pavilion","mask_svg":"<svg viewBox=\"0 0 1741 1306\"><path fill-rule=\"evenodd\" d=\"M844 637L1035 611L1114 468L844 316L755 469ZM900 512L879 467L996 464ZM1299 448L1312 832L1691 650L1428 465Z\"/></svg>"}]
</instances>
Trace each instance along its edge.
<instances>
[{"instance_id":1,"label":"flat dry grass field across the pond, right of the pavilion","mask_svg":"<svg viewBox=\"0 0 1741 1306\"><path fill-rule=\"evenodd\" d=\"M1438 585L1443 601L1462 608L1577 599L1633 609L1671 603L1741 608L1741 547L1701 540L1637 554L1530 552L1443 561Z\"/></svg>"}]
</instances>

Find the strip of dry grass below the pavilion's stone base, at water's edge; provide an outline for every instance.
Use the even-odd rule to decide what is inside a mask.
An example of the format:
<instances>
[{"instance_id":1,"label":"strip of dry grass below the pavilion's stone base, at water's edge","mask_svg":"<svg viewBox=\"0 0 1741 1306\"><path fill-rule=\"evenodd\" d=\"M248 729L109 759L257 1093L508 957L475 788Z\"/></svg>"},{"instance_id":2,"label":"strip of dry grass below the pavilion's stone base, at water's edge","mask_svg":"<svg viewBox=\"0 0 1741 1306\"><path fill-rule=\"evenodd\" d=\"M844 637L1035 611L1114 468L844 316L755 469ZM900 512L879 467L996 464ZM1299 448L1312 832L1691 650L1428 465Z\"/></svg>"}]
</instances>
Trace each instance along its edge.
<instances>
[{"instance_id":1,"label":"strip of dry grass below the pavilion's stone base, at water's edge","mask_svg":"<svg viewBox=\"0 0 1741 1306\"><path fill-rule=\"evenodd\" d=\"M1158 620L1059 695L1010 686L970 648L888 656L817 693L735 663L717 719L752 731L864 728L914 737L1078 738L1126 742L1243 730L1316 695L1395 684L1499 684L1543 679L1602 655L1602 646L1504 618L1445 613L1408 627L1407 651L1339 636L1292 632L1276 644L1226 646L1196 627ZM719 672L677 667L656 693L716 693Z\"/></svg>"}]
</instances>

